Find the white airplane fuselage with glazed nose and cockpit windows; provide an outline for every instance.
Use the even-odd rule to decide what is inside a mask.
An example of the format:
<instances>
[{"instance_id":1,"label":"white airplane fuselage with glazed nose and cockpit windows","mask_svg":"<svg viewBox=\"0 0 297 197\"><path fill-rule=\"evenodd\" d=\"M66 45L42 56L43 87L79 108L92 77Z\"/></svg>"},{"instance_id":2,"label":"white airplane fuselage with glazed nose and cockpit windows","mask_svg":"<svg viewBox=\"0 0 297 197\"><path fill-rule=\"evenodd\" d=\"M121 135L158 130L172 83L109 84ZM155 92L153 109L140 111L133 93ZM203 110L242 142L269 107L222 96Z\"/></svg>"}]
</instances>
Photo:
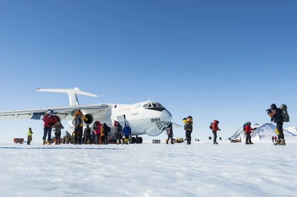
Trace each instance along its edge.
<instances>
[{"instance_id":1,"label":"white airplane fuselage with glazed nose and cockpit windows","mask_svg":"<svg viewBox=\"0 0 297 197\"><path fill-rule=\"evenodd\" d=\"M94 121L91 124L95 120L99 120L101 124L105 122L112 128L114 121L118 121L123 127L125 123L128 123L131 127L132 135L160 135L171 122L172 115L163 106L161 107L160 104L157 104L158 107L144 108L146 104L152 106L152 104L156 105L156 102L145 101L132 105L106 104L108 108L102 110L100 113L92 114L88 110L86 114L92 114ZM83 110L82 112L85 114Z\"/></svg>"}]
</instances>

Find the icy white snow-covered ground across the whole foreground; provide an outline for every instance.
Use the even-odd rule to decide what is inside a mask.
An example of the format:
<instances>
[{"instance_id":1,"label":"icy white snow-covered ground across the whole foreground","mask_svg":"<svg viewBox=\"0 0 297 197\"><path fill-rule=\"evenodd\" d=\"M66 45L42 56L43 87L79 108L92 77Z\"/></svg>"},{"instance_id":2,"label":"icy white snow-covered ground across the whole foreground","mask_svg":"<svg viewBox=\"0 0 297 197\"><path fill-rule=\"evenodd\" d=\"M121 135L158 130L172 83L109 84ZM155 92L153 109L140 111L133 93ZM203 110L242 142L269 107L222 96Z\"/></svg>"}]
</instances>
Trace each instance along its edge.
<instances>
[{"instance_id":1,"label":"icy white snow-covered ground across the whole foreground","mask_svg":"<svg viewBox=\"0 0 297 197\"><path fill-rule=\"evenodd\" d=\"M0 196L296 197L297 143L1 143Z\"/></svg>"}]
</instances>

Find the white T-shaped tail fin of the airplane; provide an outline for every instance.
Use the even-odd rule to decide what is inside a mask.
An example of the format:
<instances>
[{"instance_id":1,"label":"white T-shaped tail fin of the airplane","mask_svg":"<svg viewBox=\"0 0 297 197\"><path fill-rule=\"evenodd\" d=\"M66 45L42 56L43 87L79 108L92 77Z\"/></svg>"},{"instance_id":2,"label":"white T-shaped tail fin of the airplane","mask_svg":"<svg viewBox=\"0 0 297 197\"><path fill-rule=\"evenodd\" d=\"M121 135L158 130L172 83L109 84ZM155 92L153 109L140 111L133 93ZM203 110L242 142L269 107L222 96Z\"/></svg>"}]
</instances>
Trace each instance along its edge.
<instances>
[{"instance_id":1,"label":"white T-shaped tail fin of the airplane","mask_svg":"<svg viewBox=\"0 0 297 197\"><path fill-rule=\"evenodd\" d=\"M95 97L98 96L97 94L80 90L79 87L76 87L73 89L36 89L36 91L67 93L69 96L70 105L79 105L79 102L76 96L77 94L86 95L86 96L95 96Z\"/></svg>"}]
</instances>

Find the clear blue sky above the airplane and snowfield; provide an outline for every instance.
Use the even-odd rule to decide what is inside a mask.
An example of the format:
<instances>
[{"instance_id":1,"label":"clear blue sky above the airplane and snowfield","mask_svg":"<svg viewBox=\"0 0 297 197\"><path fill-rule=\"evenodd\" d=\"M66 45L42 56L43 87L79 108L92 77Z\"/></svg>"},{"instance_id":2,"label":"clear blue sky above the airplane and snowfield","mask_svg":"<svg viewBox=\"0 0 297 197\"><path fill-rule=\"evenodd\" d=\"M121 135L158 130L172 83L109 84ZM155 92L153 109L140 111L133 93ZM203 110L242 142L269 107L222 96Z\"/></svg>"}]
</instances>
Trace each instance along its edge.
<instances>
[{"instance_id":1,"label":"clear blue sky above the airplane and snowfield","mask_svg":"<svg viewBox=\"0 0 297 197\"><path fill-rule=\"evenodd\" d=\"M173 122L191 115L194 139L214 119L223 139L269 122L272 103L297 126L296 10L296 0L0 0L0 111L69 105L35 89L80 87L99 94L80 104L150 98ZM42 142L42 121L0 121L0 142L29 126Z\"/></svg>"}]
</instances>

